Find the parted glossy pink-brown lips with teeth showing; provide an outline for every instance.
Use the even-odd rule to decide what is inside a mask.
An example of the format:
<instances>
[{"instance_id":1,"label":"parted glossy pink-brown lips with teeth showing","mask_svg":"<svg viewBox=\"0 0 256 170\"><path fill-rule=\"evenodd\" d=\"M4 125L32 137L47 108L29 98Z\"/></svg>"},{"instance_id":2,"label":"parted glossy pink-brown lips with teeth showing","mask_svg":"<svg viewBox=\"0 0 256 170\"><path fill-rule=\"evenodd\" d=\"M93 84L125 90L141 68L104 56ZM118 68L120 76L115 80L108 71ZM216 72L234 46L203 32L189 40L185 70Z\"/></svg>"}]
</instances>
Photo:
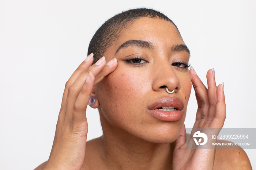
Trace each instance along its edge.
<instances>
[{"instance_id":1,"label":"parted glossy pink-brown lips with teeth showing","mask_svg":"<svg viewBox=\"0 0 256 170\"><path fill-rule=\"evenodd\" d=\"M177 121L183 116L184 104L176 97L162 98L148 107L148 112L163 121Z\"/></svg>"}]
</instances>

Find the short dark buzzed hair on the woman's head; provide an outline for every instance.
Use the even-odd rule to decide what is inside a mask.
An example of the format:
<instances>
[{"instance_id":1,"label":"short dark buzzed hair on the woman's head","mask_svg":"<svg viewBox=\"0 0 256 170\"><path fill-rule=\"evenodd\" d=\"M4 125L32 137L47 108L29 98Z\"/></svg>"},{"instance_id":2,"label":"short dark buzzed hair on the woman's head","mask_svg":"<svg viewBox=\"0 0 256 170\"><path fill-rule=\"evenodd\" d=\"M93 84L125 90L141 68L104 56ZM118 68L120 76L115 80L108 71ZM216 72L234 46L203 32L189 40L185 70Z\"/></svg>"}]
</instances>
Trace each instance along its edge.
<instances>
[{"instance_id":1,"label":"short dark buzzed hair on the woman's head","mask_svg":"<svg viewBox=\"0 0 256 170\"><path fill-rule=\"evenodd\" d=\"M154 9L137 8L121 12L99 27L91 39L88 47L88 55L94 53L93 64L103 57L106 50L117 40L125 28L129 28L133 22L141 17L164 19L171 22L177 28L172 20Z\"/></svg>"}]
</instances>

